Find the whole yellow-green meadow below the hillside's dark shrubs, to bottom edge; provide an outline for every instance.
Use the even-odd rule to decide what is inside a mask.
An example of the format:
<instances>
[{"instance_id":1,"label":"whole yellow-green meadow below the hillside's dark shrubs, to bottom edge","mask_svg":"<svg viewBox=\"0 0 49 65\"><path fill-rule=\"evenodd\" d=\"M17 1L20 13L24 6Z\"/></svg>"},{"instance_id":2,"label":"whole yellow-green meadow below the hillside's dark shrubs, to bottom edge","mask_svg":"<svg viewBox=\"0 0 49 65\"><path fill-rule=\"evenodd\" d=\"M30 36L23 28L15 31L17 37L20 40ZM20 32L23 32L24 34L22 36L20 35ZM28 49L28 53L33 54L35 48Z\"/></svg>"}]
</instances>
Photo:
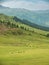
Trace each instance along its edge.
<instances>
[{"instance_id":1,"label":"whole yellow-green meadow below the hillside's dark shrubs, to bottom edge","mask_svg":"<svg viewBox=\"0 0 49 65\"><path fill-rule=\"evenodd\" d=\"M49 38L0 35L0 65L49 65Z\"/></svg>"}]
</instances>

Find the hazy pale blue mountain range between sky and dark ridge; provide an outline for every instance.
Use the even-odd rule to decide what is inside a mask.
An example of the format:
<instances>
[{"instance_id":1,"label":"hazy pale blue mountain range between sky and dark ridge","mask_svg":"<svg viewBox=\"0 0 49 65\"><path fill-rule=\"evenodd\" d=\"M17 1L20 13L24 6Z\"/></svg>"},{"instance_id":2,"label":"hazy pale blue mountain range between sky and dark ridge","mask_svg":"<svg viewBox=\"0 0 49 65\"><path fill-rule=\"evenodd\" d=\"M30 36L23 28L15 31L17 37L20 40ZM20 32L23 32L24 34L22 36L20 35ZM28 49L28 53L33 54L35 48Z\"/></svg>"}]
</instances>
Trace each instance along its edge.
<instances>
[{"instance_id":1,"label":"hazy pale blue mountain range between sky and dark ridge","mask_svg":"<svg viewBox=\"0 0 49 65\"><path fill-rule=\"evenodd\" d=\"M26 9L8 8L0 5L0 13L10 16L17 16L20 19L25 19L31 23L36 23L41 26L49 27L49 11L29 11Z\"/></svg>"}]
</instances>

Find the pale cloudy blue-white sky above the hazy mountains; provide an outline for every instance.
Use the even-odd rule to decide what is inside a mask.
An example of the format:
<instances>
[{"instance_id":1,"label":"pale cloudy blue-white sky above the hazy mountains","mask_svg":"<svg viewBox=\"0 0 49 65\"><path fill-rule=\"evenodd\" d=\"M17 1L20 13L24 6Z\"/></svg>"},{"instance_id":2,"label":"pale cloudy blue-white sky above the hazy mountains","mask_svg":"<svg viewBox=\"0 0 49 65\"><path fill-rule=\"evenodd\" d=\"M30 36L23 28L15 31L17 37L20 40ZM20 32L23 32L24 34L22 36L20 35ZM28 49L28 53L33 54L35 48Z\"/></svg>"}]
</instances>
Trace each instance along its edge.
<instances>
[{"instance_id":1,"label":"pale cloudy blue-white sky above the hazy mountains","mask_svg":"<svg viewBox=\"0 0 49 65\"><path fill-rule=\"evenodd\" d=\"M28 10L49 10L49 0L0 0L0 5Z\"/></svg>"}]
</instances>

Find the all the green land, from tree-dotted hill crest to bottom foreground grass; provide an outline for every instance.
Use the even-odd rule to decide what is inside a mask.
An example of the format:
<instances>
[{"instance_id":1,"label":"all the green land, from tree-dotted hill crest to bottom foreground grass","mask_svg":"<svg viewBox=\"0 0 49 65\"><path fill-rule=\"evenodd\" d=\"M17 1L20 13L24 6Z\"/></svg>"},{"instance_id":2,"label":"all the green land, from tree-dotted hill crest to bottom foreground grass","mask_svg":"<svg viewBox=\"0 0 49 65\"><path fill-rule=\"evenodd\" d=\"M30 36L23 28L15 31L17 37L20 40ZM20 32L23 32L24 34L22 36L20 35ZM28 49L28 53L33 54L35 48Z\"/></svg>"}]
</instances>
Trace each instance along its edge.
<instances>
[{"instance_id":1,"label":"all the green land, from tree-dotted hill crest to bottom foreground grass","mask_svg":"<svg viewBox=\"0 0 49 65\"><path fill-rule=\"evenodd\" d=\"M0 14L0 65L49 65L49 32Z\"/></svg>"}]
</instances>

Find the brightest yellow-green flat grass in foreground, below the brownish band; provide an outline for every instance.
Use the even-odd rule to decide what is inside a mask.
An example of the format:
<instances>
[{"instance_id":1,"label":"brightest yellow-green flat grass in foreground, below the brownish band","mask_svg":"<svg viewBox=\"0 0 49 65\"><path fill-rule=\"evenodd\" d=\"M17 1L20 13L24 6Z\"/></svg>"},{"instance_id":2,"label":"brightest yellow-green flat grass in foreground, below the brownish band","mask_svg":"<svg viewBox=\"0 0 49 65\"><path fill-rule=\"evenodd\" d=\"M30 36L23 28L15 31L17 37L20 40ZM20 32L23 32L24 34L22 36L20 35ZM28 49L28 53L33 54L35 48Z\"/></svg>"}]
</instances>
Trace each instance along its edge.
<instances>
[{"instance_id":1,"label":"brightest yellow-green flat grass in foreground, below the brownish band","mask_svg":"<svg viewBox=\"0 0 49 65\"><path fill-rule=\"evenodd\" d=\"M0 65L49 65L49 49L0 46Z\"/></svg>"}]
</instances>

